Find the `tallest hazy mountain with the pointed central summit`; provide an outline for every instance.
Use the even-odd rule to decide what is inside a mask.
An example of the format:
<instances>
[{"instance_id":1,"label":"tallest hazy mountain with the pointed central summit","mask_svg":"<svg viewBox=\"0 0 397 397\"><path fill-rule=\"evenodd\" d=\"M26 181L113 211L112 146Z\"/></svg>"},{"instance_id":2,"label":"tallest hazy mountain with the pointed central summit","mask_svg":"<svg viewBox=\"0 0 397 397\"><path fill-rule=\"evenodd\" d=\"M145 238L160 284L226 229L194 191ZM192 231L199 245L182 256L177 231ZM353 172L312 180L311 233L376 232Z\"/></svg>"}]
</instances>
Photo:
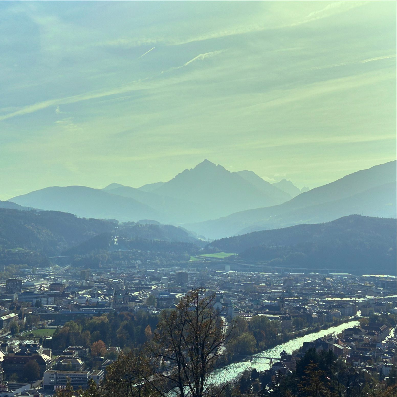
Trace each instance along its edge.
<instances>
[{"instance_id":1,"label":"tallest hazy mountain with the pointed central summit","mask_svg":"<svg viewBox=\"0 0 397 397\"><path fill-rule=\"evenodd\" d=\"M184 170L152 193L201 204L206 207L206 219L282 201L282 193L278 197L266 194L237 173L208 160Z\"/></svg>"}]
</instances>

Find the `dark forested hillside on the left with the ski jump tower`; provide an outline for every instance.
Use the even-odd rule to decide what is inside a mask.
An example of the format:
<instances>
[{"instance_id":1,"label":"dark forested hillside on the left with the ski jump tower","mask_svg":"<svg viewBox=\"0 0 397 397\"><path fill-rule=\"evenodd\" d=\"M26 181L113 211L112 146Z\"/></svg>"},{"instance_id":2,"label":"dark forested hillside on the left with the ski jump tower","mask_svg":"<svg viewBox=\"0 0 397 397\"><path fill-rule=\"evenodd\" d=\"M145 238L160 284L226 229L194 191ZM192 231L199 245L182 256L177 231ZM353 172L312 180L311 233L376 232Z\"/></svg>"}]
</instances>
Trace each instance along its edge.
<instances>
[{"instance_id":1,"label":"dark forested hillside on the left with the ski jump tower","mask_svg":"<svg viewBox=\"0 0 397 397\"><path fill-rule=\"evenodd\" d=\"M115 234L123 237L124 244L128 242L124 249L162 252L165 247L180 251L179 245L204 245L187 230L172 225L119 224L111 220L77 218L65 212L0 209L0 248L3 250L21 248L46 256L83 254L109 249Z\"/></svg>"}]
</instances>

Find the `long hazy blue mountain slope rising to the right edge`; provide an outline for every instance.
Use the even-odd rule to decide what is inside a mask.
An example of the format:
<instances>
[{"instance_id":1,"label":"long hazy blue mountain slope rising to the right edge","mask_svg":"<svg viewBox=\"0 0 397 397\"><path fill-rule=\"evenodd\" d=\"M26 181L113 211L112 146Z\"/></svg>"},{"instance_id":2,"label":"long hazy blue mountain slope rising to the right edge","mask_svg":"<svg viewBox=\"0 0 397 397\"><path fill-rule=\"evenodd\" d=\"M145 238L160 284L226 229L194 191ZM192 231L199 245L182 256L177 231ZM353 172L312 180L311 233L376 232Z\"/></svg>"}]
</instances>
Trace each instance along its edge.
<instances>
[{"instance_id":1,"label":"long hazy blue mountain slope rising to the right edge","mask_svg":"<svg viewBox=\"0 0 397 397\"><path fill-rule=\"evenodd\" d=\"M208 238L219 238L247 233L251 228L275 229L305 222L328 222L355 213L394 218L396 179L396 162L389 162L301 193L277 206L185 226Z\"/></svg>"}]
</instances>

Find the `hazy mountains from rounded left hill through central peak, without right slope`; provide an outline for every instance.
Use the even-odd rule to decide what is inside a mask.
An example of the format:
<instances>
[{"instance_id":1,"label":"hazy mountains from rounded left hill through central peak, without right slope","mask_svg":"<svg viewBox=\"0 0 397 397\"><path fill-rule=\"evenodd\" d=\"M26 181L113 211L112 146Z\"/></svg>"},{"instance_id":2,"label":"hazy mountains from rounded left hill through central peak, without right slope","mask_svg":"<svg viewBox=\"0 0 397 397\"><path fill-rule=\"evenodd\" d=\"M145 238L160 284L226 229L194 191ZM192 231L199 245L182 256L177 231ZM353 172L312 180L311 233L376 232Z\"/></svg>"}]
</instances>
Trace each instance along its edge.
<instances>
[{"instance_id":1,"label":"hazy mountains from rounded left hill through central peak, without right slope","mask_svg":"<svg viewBox=\"0 0 397 397\"><path fill-rule=\"evenodd\" d=\"M145 218L183 224L280 204L289 199L288 193L253 172L229 172L204 160L166 183L153 183L139 189L118 183L104 189L54 186L9 201L43 210L71 212L86 218L117 219L121 222Z\"/></svg>"}]
</instances>

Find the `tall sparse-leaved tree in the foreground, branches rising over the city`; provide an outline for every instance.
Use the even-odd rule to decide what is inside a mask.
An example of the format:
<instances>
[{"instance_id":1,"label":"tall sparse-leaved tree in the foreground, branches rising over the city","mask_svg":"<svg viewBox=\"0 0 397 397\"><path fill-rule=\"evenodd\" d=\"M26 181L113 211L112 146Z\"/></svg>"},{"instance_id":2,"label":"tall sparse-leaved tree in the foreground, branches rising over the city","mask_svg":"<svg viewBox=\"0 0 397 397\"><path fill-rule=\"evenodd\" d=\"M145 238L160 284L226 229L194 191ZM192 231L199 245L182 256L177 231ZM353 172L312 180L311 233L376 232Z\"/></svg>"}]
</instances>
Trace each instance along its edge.
<instances>
[{"instance_id":1,"label":"tall sparse-leaved tree in the foreground, branches rising over the city","mask_svg":"<svg viewBox=\"0 0 397 397\"><path fill-rule=\"evenodd\" d=\"M233 324L226 327L222 312L214 308L216 295L203 294L201 289L193 290L175 310L163 310L154 333L153 353L163 369L158 374L163 389L179 397L209 394L208 376L233 341Z\"/></svg>"}]
</instances>

